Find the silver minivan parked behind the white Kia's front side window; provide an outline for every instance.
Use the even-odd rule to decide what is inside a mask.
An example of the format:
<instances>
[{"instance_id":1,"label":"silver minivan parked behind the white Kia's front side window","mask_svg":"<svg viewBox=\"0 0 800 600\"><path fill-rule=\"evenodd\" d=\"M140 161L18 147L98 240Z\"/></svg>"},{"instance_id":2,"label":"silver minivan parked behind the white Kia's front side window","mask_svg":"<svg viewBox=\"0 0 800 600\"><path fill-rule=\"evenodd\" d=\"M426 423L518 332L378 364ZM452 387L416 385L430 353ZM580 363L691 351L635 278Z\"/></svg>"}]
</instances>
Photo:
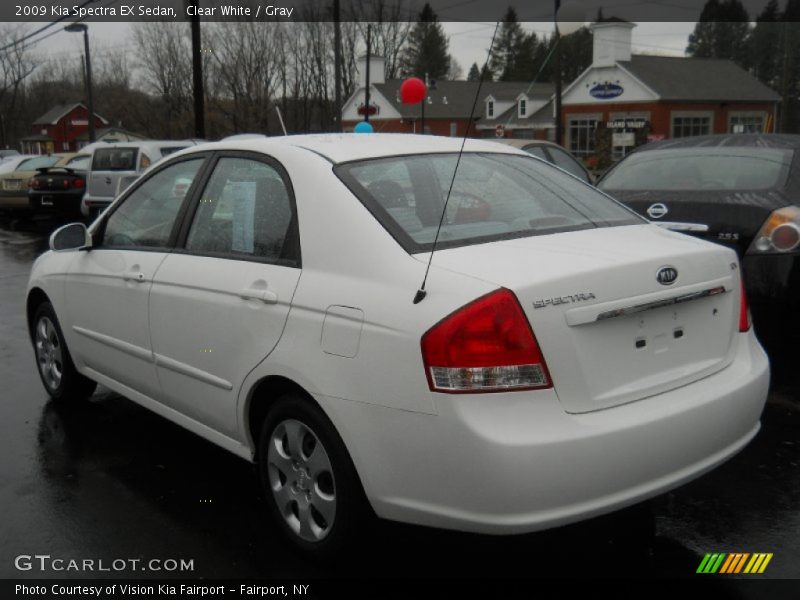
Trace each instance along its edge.
<instances>
[{"instance_id":1,"label":"silver minivan parked behind the white Kia's front side window","mask_svg":"<svg viewBox=\"0 0 800 600\"><path fill-rule=\"evenodd\" d=\"M86 194L81 200L84 216L93 216L105 209L126 185L150 165L165 156L196 145L194 140L149 140L119 142L93 146L92 164Z\"/></svg>"}]
</instances>

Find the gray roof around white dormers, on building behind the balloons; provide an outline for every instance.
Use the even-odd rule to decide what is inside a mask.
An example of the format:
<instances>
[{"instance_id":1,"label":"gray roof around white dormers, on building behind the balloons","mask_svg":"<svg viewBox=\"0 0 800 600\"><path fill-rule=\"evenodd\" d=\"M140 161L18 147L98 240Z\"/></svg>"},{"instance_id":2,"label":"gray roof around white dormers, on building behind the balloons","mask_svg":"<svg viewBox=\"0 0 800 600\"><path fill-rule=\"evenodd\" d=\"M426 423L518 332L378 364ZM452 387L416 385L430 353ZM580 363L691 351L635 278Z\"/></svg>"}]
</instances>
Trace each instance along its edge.
<instances>
[{"instance_id":1,"label":"gray roof around white dormers, on building behind the balloons","mask_svg":"<svg viewBox=\"0 0 800 600\"><path fill-rule=\"evenodd\" d=\"M419 104L403 104L400 101L401 79L390 79L386 83L376 83L374 87L391 102L392 106L404 118L419 118ZM480 97L475 107L474 118L483 115L482 102L492 96L495 100L513 102L517 96L528 92L530 98L547 98L553 95L553 84L535 83L528 88L526 81L484 81L480 89ZM472 111L475 94L478 92L477 81L437 81L436 89L428 91L430 102L425 105L426 119L466 119Z\"/></svg>"}]
</instances>

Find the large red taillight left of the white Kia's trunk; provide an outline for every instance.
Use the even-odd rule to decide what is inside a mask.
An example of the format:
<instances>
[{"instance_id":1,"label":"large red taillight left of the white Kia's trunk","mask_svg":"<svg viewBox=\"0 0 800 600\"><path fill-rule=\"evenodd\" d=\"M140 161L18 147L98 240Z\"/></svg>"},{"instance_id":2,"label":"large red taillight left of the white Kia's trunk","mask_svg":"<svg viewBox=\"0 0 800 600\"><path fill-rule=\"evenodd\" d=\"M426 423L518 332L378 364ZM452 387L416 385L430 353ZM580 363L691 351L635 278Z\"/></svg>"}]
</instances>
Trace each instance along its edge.
<instances>
[{"instance_id":1,"label":"large red taillight left of the white Kia's trunk","mask_svg":"<svg viewBox=\"0 0 800 600\"><path fill-rule=\"evenodd\" d=\"M434 325L422 336L422 359L435 392L552 387L533 330L507 289L478 298Z\"/></svg>"}]
</instances>

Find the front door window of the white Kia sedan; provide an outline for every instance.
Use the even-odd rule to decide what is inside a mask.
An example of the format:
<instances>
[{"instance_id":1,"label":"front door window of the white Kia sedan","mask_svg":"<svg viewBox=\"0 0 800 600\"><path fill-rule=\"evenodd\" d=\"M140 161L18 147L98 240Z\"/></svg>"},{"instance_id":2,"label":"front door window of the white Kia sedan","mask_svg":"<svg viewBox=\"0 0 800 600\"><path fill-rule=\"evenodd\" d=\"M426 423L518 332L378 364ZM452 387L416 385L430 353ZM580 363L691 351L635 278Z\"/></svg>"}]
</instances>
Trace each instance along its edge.
<instances>
[{"instance_id":1,"label":"front door window of the white Kia sedan","mask_svg":"<svg viewBox=\"0 0 800 600\"><path fill-rule=\"evenodd\" d=\"M105 224L103 247L162 248L204 158L175 163L134 190Z\"/></svg>"}]
</instances>

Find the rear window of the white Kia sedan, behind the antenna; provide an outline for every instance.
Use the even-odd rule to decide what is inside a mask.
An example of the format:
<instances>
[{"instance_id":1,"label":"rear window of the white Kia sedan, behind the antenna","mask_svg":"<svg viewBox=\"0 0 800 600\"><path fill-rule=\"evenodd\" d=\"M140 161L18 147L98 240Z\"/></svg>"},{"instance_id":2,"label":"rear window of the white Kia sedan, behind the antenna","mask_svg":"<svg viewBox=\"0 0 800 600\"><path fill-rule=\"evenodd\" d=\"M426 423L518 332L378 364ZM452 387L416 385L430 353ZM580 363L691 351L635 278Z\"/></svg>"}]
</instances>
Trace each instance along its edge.
<instances>
[{"instance_id":1,"label":"rear window of the white Kia sedan, behind the antenna","mask_svg":"<svg viewBox=\"0 0 800 600\"><path fill-rule=\"evenodd\" d=\"M420 154L345 163L335 172L409 252L430 250L458 155ZM437 247L447 248L644 221L542 161L464 154Z\"/></svg>"}]
</instances>

